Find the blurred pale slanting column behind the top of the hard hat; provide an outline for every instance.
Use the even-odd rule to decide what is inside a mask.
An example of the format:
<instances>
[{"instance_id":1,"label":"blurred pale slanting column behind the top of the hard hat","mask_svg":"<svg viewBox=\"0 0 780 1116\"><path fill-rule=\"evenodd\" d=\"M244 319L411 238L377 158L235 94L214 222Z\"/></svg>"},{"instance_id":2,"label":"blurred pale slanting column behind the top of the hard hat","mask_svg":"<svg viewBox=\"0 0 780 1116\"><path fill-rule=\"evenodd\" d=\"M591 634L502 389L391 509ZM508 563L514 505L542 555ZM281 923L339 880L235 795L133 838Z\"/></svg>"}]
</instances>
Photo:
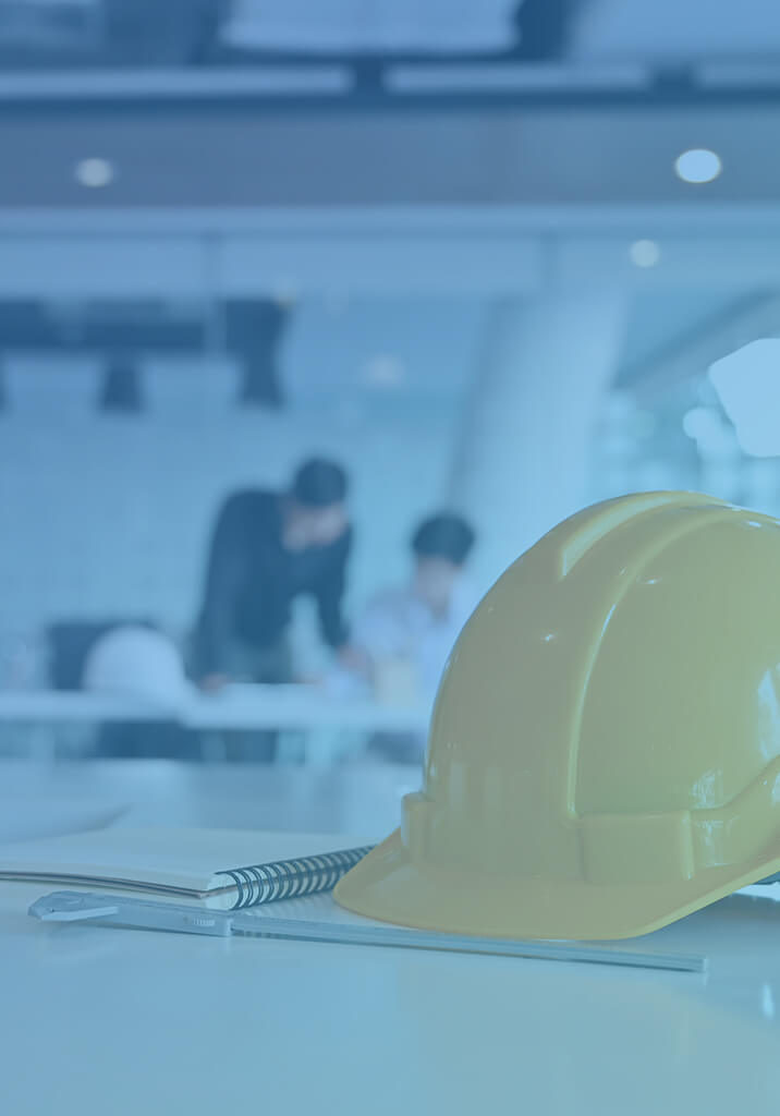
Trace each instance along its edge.
<instances>
[{"instance_id":1,"label":"blurred pale slanting column behind the top of the hard hat","mask_svg":"<svg viewBox=\"0 0 780 1116\"><path fill-rule=\"evenodd\" d=\"M479 531L481 584L587 501L594 425L624 319L615 290L494 307L450 489Z\"/></svg>"}]
</instances>

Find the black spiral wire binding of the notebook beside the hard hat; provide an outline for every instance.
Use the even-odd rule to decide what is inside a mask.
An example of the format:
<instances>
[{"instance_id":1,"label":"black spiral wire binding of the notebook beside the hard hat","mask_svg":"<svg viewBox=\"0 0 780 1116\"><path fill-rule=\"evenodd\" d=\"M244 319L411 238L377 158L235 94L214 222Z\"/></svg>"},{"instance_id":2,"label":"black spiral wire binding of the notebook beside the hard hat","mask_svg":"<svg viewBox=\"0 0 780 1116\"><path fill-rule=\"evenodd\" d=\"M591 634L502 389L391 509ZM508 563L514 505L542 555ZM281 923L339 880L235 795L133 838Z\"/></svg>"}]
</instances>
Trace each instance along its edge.
<instances>
[{"instance_id":1,"label":"black spiral wire binding of the notebook beside the hard hat","mask_svg":"<svg viewBox=\"0 0 780 1116\"><path fill-rule=\"evenodd\" d=\"M329 892L373 848L373 845L363 845L360 848L344 848L293 860L272 860L270 864L230 868L219 875L230 876L235 884L239 894L231 910L237 911L276 899Z\"/></svg>"}]
</instances>

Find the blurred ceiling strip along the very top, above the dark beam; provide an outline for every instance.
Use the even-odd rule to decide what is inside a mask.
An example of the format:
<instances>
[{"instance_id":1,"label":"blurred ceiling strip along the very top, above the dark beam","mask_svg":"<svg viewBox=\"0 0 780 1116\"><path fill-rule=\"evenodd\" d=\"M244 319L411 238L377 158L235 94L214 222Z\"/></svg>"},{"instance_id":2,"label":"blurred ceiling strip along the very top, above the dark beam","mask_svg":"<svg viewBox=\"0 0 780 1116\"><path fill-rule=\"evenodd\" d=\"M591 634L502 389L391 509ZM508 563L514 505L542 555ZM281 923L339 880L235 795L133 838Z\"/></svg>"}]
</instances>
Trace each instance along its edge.
<instances>
[{"instance_id":1,"label":"blurred ceiling strip along the very top, above the dark beam","mask_svg":"<svg viewBox=\"0 0 780 1116\"><path fill-rule=\"evenodd\" d=\"M18 66L252 56L676 66L777 55L780 9L774 0L0 0L0 51Z\"/></svg>"}]
</instances>

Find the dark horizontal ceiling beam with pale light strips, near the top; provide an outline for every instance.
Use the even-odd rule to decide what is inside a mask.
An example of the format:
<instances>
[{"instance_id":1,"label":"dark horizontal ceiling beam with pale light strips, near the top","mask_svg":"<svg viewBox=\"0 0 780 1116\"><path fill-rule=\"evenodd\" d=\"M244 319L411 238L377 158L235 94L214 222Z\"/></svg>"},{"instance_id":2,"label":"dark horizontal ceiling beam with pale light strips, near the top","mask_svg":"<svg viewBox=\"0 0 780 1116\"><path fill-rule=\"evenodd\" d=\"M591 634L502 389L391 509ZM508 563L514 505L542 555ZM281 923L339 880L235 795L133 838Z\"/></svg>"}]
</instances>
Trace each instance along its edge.
<instances>
[{"instance_id":1,"label":"dark horizontal ceiling beam with pale light strips, near the top","mask_svg":"<svg viewBox=\"0 0 780 1116\"><path fill-rule=\"evenodd\" d=\"M252 70L119 70L115 75L0 74L0 119L46 117L156 116L175 113L183 119L285 117L289 115L356 116L384 112L394 116L421 112L485 113L511 110L569 112L622 109L637 113L663 108L723 108L780 104L780 68L774 83L749 76L741 84L699 81L695 70L652 71L643 67L576 68L549 64L504 62L469 66L463 78L455 61L403 67L364 60L359 80L341 80L338 66L308 67L301 73L281 64ZM252 80L252 75L258 80ZM415 84L415 74L424 79ZM495 81L497 74L501 80ZM194 75L198 75L195 79ZM403 75L403 81L396 80ZM354 78L355 75L353 75ZM441 81L431 80L431 77Z\"/></svg>"}]
</instances>

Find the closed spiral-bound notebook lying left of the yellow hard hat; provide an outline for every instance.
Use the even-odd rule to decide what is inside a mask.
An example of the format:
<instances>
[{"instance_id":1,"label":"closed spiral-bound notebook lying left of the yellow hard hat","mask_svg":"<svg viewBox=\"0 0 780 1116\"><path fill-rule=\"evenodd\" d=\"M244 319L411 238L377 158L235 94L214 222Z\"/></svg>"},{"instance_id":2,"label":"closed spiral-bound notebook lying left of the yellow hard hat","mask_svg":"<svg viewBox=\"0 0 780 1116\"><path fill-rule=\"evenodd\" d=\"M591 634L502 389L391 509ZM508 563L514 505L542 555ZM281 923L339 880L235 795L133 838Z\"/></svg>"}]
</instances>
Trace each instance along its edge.
<instances>
[{"instance_id":1,"label":"closed spiral-bound notebook lying left of the yellow hard hat","mask_svg":"<svg viewBox=\"0 0 780 1116\"><path fill-rule=\"evenodd\" d=\"M240 829L96 829L0 846L0 879L122 888L235 911L330 891L372 847L334 848L338 843Z\"/></svg>"}]
</instances>

